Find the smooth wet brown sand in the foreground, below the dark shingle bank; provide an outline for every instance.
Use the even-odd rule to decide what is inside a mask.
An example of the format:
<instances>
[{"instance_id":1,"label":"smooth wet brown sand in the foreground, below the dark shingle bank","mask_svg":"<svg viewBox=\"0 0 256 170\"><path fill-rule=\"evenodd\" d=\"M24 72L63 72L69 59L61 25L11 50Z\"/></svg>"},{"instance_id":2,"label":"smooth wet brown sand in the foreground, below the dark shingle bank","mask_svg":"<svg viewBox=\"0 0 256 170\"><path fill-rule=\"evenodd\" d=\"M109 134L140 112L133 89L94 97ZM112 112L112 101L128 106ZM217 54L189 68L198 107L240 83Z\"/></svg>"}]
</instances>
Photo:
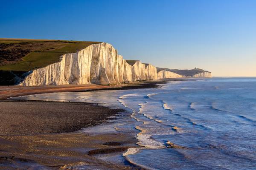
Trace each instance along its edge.
<instances>
[{"instance_id":1,"label":"smooth wet brown sand in the foreground, below the dark shingle bank","mask_svg":"<svg viewBox=\"0 0 256 170\"><path fill-rule=\"evenodd\" d=\"M120 142L119 146L105 142ZM0 136L0 155L14 159L0 159L0 169L38 170L71 169L84 165L84 169L129 170L137 167L114 164L95 158L95 154L122 154L128 147L137 147L133 136L127 134L103 134L88 136L83 133L56 133L29 136ZM99 152L101 150L102 152ZM94 154L92 154L94 153ZM33 167L35 166L35 167Z\"/></svg>"}]
</instances>

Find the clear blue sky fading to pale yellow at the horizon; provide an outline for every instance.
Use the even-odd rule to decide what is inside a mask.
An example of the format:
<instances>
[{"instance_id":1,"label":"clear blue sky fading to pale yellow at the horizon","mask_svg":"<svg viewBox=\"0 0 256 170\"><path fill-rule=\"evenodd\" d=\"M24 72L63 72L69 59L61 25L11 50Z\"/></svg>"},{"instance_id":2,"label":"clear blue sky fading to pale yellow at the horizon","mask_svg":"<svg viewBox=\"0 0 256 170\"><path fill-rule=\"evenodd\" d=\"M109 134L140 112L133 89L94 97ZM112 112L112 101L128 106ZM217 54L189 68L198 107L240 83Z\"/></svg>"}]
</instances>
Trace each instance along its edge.
<instances>
[{"instance_id":1,"label":"clear blue sky fading to pale yellow at the horizon","mask_svg":"<svg viewBox=\"0 0 256 170\"><path fill-rule=\"evenodd\" d=\"M158 67L256 77L256 0L0 0L0 37L102 41Z\"/></svg>"}]
</instances>

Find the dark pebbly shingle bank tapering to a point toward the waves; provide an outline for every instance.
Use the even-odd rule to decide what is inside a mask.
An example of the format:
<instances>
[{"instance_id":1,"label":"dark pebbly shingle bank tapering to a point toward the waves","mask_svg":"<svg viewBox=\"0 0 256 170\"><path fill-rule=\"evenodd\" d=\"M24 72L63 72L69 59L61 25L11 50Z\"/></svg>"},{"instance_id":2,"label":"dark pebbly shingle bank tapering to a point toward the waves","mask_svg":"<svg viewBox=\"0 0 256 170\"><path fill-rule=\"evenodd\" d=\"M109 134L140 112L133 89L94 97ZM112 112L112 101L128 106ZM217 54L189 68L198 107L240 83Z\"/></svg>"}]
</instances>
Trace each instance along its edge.
<instances>
[{"instance_id":1,"label":"dark pebbly shingle bank tapering to a point toward the waves","mask_svg":"<svg viewBox=\"0 0 256 170\"><path fill-rule=\"evenodd\" d=\"M68 133L98 125L122 112L76 102L0 102L0 135Z\"/></svg>"}]
</instances>

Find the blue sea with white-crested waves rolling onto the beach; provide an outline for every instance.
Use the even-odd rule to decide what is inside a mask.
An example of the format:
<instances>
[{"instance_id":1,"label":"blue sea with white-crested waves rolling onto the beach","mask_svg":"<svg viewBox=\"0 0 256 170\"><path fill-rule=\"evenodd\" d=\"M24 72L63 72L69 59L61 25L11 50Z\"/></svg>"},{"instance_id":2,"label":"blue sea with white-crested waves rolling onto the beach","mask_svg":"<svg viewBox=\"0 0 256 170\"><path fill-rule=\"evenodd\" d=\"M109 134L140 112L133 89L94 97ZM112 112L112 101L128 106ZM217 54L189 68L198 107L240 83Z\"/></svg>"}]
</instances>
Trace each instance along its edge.
<instances>
[{"instance_id":1,"label":"blue sea with white-crested waves rolling onto the beach","mask_svg":"<svg viewBox=\"0 0 256 170\"><path fill-rule=\"evenodd\" d=\"M129 149L123 158L146 169L256 170L256 78L186 79L161 85L23 98L125 108L129 119L100 129L133 130L142 147ZM93 128L82 132L93 134Z\"/></svg>"}]
</instances>

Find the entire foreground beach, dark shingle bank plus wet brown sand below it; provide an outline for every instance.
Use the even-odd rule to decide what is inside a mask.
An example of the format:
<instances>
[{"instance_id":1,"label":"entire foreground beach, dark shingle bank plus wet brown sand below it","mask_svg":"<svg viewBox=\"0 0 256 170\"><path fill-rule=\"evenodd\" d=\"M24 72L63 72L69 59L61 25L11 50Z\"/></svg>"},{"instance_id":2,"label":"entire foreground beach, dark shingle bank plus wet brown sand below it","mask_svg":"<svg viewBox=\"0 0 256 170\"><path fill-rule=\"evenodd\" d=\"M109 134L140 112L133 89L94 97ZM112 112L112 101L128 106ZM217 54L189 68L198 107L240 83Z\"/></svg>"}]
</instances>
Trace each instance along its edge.
<instances>
[{"instance_id":1,"label":"entire foreground beach, dark shingle bank plus wet brown sand below it","mask_svg":"<svg viewBox=\"0 0 256 170\"><path fill-rule=\"evenodd\" d=\"M111 121L110 116L123 110L87 103L40 101L2 101L0 108L0 157L14 156L0 159L0 169L69 169L77 164L86 166L85 169L137 169L94 157L121 155L129 147L138 147L136 133L76 132Z\"/></svg>"}]
</instances>

